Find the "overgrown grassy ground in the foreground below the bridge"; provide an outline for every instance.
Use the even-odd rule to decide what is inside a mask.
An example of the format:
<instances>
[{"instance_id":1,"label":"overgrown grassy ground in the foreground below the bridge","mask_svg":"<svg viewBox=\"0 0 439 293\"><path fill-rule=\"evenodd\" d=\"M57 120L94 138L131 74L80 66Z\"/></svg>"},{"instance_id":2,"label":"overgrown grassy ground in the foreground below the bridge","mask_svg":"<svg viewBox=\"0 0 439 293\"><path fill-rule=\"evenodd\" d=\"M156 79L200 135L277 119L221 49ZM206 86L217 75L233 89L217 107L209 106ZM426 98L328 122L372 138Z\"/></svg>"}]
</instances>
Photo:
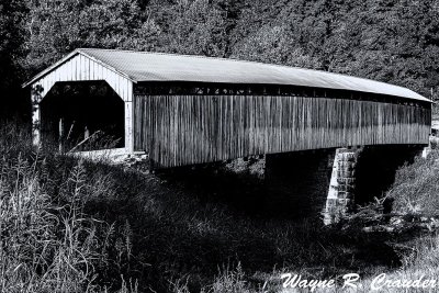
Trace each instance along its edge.
<instances>
[{"instance_id":1,"label":"overgrown grassy ground in the foreground below the bridge","mask_svg":"<svg viewBox=\"0 0 439 293\"><path fill-rule=\"evenodd\" d=\"M15 126L0 137L0 292L295 292L283 272L356 272L364 286L438 274L434 225L374 229L389 226L379 206L324 227L261 213L263 181L248 172L144 174L35 153ZM438 158L398 172L399 214L435 214Z\"/></svg>"}]
</instances>

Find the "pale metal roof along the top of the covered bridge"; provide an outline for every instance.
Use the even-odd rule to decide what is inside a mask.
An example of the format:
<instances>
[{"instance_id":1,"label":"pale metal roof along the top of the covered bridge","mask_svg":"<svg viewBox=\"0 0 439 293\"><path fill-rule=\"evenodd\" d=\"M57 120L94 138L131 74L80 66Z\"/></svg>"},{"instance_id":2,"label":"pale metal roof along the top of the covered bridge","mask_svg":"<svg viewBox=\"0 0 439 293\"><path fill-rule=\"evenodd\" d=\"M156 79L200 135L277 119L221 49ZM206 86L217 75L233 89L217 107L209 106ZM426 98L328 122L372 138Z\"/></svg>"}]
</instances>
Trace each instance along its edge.
<instances>
[{"instance_id":1,"label":"pale metal roof along the top of the covered bridge","mask_svg":"<svg viewBox=\"0 0 439 293\"><path fill-rule=\"evenodd\" d=\"M104 66L134 82L198 81L288 84L389 94L430 102L429 99L407 88L326 71L236 59L97 48L76 49L26 82L24 87L61 66L77 54L101 61Z\"/></svg>"}]
</instances>

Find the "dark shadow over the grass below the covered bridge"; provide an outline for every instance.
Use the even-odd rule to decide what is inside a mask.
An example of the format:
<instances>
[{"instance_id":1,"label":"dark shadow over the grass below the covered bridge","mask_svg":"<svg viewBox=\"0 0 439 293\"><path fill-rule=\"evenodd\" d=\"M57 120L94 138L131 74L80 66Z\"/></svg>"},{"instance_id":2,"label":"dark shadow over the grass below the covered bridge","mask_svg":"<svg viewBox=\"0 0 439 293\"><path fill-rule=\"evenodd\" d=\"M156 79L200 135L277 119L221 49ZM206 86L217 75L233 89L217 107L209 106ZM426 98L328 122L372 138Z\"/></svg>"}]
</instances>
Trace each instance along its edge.
<instances>
[{"instance_id":1,"label":"dark shadow over the grass below the covered bridge","mask_svg":"<svg viewBox=\"0 0 439 293\"><path fill-rule=\"evenodd\" d=\"M248 277L278 268L315 278L401 266L401 255L389 244L394 235L325 227L319 218L267 211L263 180L250 174L216 168L143 176L105 165L90 168L90 183L106 177L114 192L88 199L88 213L116 223L119 235L126 226L131 234L130 255L114 259L119 264L101 274L102 282L123 273L144 290L153 284L166 291L170 280L187 278L196 292L225 264L240 263ZM113 250L114 258L117 245Z\"/></svg>"}]
</instances>

